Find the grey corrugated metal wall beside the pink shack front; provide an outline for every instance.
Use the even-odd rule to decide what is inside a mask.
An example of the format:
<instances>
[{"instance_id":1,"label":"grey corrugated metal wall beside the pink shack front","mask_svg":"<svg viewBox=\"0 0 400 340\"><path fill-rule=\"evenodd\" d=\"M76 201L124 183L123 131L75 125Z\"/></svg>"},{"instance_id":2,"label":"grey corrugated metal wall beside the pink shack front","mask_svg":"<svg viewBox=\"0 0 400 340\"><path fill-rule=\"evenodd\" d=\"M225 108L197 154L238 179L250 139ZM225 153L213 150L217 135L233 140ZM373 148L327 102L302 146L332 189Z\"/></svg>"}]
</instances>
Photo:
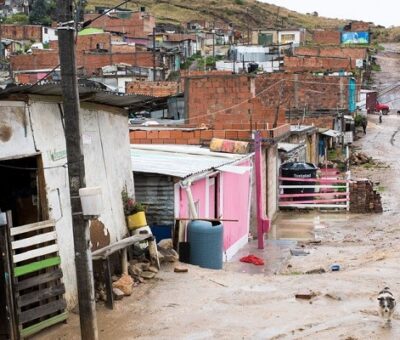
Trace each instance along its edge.
<instances>
[{"instance_id":1,"label":"grey corrugated metal wall beside the pink shack front","mask_svg":"<svg viewBox=\"0 0 400 340\"><path fill-rule=\"evenodd\" d=\"M172 177L153 174L134 174L136 200L147 207L149 225L173 225L174 181Z\"/></svg>"}]
</instances>

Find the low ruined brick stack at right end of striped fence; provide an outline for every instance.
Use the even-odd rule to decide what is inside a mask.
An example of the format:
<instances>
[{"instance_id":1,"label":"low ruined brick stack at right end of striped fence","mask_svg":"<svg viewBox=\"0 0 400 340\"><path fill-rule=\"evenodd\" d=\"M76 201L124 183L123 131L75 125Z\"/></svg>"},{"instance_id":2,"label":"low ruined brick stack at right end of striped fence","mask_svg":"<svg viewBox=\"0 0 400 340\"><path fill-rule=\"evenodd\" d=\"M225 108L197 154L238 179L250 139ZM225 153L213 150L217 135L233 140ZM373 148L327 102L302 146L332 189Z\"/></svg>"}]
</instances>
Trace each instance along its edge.
<instances>
[{"instance_id":1,"label":"low ruined brick stack at right end of striped fence","mask_svg":"<svg viewBox=\"0 0 400 340\"><path fill-rule=\"evenodd\" d=\"M383 212L381 195L370 180L358 180L350 184L350 212L357 214Z\"/></svg>"}]
</instances>

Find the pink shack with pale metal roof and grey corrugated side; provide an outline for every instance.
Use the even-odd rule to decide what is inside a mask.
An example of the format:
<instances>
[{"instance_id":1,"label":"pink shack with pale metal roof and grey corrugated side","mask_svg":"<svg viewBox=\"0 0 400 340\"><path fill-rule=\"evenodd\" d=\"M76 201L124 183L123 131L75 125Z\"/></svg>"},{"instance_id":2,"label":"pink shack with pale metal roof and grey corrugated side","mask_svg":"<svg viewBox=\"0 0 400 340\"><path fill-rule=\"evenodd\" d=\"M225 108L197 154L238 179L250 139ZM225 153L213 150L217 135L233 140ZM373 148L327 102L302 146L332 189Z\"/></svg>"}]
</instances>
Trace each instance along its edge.
<instances>
[{"instance_id":1,"label":"pink shack with pale metal roof and grey corrugated side","mask_svg":"<svg viewBox=\"0 0 400 340\"><path fill-rule=\"evenodd\" d=\"M194 215L237 220L223 222L225 260L247 244L253 154L153 144L132 145L131 158L136 200L147 206L150 226Z\"/></svg>"}]
</instances>

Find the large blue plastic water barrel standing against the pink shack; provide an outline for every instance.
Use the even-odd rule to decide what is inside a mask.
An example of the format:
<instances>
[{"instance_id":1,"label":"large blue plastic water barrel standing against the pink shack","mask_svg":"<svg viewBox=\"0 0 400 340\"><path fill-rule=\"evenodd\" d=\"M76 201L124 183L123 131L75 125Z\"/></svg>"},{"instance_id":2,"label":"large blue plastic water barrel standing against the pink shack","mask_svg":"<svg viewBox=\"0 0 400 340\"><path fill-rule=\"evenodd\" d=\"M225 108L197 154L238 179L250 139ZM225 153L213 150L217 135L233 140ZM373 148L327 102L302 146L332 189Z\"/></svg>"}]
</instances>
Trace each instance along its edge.
<instances>
[{"instance_id":1,"label":"large blue plastic water barrel standing against the pink shack","mask_svg":"<svg viewBox=\"0 0 400 340\"><path fill-rule=\"evenodd\" d=\"M192 221L188 225L190 263L209 269L222 269L223 227L219 222Z\"/></svg>"}]
</instances>

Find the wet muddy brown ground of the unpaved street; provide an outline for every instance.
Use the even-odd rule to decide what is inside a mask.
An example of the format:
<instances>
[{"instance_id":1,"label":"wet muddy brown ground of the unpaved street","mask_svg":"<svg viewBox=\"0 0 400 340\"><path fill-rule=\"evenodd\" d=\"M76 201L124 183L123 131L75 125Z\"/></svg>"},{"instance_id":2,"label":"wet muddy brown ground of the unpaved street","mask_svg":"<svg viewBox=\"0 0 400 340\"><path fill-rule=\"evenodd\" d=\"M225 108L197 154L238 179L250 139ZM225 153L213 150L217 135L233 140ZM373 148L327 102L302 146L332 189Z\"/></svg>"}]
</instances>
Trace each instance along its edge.
<instances>
[{"instance_id":1,"label":"wet muddy brown ground of the unpaved street","mask_svg":"<svg viewBox=\"0 0 400 340\"><path fill-rule=\"evenodd\" d=\"M114 311L99 305L100 339L400 339L400 314L385 327L376 300L385 286L400 300L400 116L369 120L356 147L389 167L353 175L379 183L383 214L282 214L264 251L251 243L221 271L167 267ZM240 263L248 253L266 265ZM332 264L340 271L330 271ZM313 269L326 272L304 274ZM307 292L315 296L295 298ZM37 338L79 339L78 317Z\"/></svg>"}]
</instances>

